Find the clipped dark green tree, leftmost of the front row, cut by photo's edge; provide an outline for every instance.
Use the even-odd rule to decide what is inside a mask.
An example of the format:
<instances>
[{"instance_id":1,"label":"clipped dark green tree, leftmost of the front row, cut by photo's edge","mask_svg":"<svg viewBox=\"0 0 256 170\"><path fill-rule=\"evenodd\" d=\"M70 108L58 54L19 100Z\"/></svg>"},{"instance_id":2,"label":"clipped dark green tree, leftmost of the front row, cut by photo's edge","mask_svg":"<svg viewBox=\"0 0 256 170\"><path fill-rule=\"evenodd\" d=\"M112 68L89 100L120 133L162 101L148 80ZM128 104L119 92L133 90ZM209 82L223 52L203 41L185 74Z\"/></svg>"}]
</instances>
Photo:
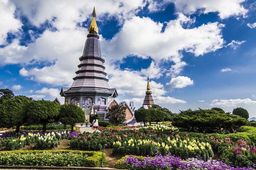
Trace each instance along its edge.
<instances>
[{"instance_id":1,"label":"clipped dark green tree, leftmost of the front row, cut by photo's edge","mask_svg":"<svg viewBox=\"0 0 256 170\"><path fill-rule=\"evenodd\" d=\"M26 106L31 99L26 96L15 96L9 100L4 100L0 109L0 127L16 127L16 134L20 131L20 126L24 125L27 118Z\"/></svg>"}]
</instances>

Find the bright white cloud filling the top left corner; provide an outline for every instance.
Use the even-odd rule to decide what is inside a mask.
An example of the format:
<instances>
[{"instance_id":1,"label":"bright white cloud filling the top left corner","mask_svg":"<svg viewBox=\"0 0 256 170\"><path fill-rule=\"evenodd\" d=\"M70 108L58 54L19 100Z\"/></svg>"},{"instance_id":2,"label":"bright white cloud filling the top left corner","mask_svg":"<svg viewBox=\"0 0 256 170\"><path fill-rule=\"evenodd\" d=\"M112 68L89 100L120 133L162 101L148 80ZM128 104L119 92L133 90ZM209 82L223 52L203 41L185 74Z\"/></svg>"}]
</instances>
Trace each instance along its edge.
<instances>
[{"instance_id":1,"label":"bright white cloud filling the top left corner","mask_svg":"<svg viewBox=\"0 0 256 170\"><path fill-rule=\"evenodd\" d=\"M22 26L18 19L15 19L16 7L7 0L0 1L0 45L5 44L7 33L15 34Z\"/></svg>"}]
</instances>

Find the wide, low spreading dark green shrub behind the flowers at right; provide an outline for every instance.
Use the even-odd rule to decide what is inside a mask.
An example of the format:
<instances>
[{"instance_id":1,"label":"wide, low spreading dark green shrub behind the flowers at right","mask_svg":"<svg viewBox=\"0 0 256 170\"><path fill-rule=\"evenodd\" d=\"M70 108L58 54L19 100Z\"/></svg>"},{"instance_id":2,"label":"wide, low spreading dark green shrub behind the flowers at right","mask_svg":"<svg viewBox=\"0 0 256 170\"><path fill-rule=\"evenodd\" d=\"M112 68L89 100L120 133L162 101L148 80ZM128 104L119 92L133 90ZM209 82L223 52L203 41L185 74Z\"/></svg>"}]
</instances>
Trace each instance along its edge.
<instances>
[{"instance_id":1,"label":"wide, low spreading dark green shrub behind the flowers at right","mask_svg":"<svg viewBox=\"0 0 256 170\"><path fill-rule=\"evenodd\" d=\"M235 132L246 124L246 120L237 115L230 115L215 110L188 109L175 114L172 125L184 128L188 132L213 133Z\"/></svg>"}]
</instances>

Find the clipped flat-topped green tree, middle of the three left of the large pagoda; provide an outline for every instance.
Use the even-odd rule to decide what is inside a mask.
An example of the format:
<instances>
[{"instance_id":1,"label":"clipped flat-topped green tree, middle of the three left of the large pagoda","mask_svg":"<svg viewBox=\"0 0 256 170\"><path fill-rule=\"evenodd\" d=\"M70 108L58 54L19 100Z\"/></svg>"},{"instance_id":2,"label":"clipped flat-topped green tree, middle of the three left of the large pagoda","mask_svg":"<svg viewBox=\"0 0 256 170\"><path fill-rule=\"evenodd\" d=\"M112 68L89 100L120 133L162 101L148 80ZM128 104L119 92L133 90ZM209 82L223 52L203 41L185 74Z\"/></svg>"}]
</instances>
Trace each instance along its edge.
<instances>
[{"instance_id":1,"label":"clipped flat-topped green tree, middle of the three left of the large pagoda","mask_svg":"<svg viewBox=\"0 0 256 170\"><path fill-rule=\"evenodd\" d=\"M46 124L55 122L60 114L60 105L49 100L32 100L27 108L28 123L43 124L43 132Z\"/></svg>"}]
</instances>

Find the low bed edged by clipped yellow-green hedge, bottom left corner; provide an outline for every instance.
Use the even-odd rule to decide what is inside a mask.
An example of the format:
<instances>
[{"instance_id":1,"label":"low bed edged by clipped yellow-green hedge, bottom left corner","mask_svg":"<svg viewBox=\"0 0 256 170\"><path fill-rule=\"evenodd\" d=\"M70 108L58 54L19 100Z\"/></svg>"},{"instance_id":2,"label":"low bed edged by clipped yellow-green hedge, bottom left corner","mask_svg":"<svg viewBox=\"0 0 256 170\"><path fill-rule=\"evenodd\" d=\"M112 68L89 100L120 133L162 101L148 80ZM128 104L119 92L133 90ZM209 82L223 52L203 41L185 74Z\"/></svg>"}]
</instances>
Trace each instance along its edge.
<instances>
[{"instance_id":1,"label":"low bed edged by clipped yellow-green hedge, bottom left corner","mask_svg":"<svg viewBox=\"0 0 256 170\"><path fill-rule=\"evenodd\" d=\"M96 151L28 150L0 152L0 165L2 166L100 167L101 159L102 152ZM103 161L106 161L105 153Z\"/></svg>"}]
</instances>

